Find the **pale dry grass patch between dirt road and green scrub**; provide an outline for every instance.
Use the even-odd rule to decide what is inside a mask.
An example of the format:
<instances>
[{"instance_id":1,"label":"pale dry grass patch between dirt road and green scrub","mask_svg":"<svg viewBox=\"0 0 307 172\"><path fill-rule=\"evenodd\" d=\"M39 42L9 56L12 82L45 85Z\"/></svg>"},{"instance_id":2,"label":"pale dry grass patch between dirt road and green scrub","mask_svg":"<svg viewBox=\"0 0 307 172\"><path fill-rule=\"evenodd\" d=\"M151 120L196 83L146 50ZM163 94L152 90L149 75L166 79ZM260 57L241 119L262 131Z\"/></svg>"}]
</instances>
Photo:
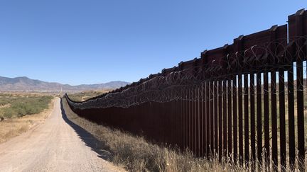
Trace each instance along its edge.
<instances>
[{"instance_id":1,"label":"pale dry grass patch between dirt road and green scrub","mask_svg":"<svg viewBox=\"0 0 307 172\"><path fill-rule=\"evenodd\" d=\"M0 122L0 143L6 142L45 121L53 110L54 101L51 101L48 109L43 110L41 113L11 118Z\"/></svg>"}]
</instances>

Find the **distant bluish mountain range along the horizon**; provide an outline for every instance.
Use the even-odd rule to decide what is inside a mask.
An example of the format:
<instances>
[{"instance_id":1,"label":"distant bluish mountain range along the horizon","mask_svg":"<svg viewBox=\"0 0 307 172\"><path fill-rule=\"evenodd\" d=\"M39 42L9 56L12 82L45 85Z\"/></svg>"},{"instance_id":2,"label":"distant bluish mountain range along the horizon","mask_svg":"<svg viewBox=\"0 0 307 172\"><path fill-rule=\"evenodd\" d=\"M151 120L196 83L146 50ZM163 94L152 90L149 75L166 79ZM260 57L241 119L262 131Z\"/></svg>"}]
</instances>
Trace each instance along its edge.
<instances>
[{"instance_id":1,"label":"distant bluish mountain range along the horizon","mask_svg":"<svg viewBox=\"0 0 307 172\"><path fill-rule=\"evenodd\" d=\"M70 86L56 82L46 82L37 79L29 79L26 76L7 78L0 76L0 91L26 91L26 92L78 92L88 90L106 90L126 86L129 82L111 81L105 84L82 84Z\"/></svg>"}]
</instances>

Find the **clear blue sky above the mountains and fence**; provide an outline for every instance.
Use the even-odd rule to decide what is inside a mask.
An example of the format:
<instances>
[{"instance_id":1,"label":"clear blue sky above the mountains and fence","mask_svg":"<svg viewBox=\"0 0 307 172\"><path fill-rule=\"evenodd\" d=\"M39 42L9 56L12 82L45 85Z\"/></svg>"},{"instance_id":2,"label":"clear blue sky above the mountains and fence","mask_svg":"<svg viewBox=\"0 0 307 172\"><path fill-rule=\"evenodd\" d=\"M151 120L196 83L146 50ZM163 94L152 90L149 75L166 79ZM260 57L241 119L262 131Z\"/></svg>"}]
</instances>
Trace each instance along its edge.
<instances>
[{"instance_id":1,"label":"clear blue sky above the mountains and fence","mask_svg":"<svg viewBox=\"0 0 307 172\"><path fill-rule=\"evenodd\" d=\"M301 8L306 0L0 0L0 76L138 81Z\"/></svg>"}]
</instances>

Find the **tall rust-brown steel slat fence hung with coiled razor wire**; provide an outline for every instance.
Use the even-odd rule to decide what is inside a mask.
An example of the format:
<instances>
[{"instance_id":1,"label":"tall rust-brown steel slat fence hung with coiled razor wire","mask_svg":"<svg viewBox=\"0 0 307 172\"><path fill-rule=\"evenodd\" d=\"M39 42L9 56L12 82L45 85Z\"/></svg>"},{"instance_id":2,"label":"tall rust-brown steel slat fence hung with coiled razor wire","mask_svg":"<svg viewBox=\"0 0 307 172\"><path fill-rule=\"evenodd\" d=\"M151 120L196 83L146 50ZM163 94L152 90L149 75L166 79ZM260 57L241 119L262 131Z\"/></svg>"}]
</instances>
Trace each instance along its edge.
<instances>
[{"instance_id":1,"label":"tall rust-brown steel slat fence hung with coiled razor wire","mask_svg":"<svg viewBox=\"0 0 307 172\"><path fill-rule=\"evenodd\" d=\"M65 98L88 120L198 157L303 171L307 12L288 19L87 101Z\"/></svg>"}]
</instances>

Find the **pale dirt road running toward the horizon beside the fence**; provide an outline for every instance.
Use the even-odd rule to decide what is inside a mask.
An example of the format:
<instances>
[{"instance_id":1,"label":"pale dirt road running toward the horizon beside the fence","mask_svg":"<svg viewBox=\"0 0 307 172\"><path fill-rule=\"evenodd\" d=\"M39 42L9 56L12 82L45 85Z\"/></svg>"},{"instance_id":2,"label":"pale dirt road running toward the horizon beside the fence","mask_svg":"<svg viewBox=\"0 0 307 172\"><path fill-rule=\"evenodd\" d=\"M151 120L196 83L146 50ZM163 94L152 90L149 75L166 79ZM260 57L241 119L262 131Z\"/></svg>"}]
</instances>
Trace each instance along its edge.
<instances>
[{"instance_id":1,"label":"pale dirt road running toward the horizon beside the fence","mask_svg":"<svg viewBox=\"0 0 307 172\"><path fill-rule=\"evenodd\" d=\"M90 134L67 119L58 99L43 124L0 144L0 171L123 171L102 159L93 144Z\"/></svg>"}]
</instances>

